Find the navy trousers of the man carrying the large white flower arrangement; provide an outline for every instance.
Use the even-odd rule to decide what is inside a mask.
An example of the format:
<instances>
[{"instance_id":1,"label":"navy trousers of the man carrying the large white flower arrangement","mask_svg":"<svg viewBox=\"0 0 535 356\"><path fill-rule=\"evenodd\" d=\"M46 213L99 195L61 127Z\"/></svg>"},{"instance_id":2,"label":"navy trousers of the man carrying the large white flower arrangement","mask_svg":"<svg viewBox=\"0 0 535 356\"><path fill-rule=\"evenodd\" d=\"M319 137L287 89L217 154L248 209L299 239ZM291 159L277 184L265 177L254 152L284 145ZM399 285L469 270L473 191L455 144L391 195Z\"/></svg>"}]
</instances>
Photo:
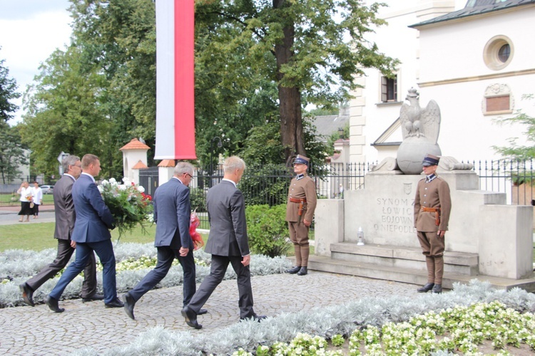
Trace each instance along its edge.
<instances>
[{"instance_id":1,"label":"navy trousers of the man carrying the large white flower arrangement","mask_svg":"<svg viewBox=\"0 0 535 356\"><path fill-rule=\"evenodd\" d=\"M104 288L104 303L111 303L117 298L115 255L113 254L111 240L76 243L76 259L68 265L61 278L59 278L58 284L50 292L49 295L52 298L59 299L61 297L68 283L71 283L83 270L84 266L86 266L88 258L90 258L93 251L96 252L103 266L102 284Z\"/></svg>"}]
</instances>

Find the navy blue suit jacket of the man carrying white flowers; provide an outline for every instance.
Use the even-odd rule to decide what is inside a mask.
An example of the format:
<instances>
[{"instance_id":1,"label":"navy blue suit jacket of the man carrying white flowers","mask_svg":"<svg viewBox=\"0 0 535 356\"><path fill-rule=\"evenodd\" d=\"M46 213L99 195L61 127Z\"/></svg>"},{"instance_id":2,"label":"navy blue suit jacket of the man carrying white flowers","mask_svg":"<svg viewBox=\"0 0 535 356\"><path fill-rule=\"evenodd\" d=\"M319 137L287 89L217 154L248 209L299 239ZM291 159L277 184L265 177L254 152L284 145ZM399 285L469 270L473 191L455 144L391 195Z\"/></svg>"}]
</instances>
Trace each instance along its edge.
<instances>
[{"instance_id":1,"label":"navy blue suit jacket of the man carrying white flowers","mask_svg":"<svg viewBox=\"0 0 535 356\"><path fill-rule=\"evenodd\" d=\"M71 240L87 243L111 239L109 229L114 227L113 216L88 174L81 174L74 182L72 196L76 223Z\"/></svg>"}]
</instances>

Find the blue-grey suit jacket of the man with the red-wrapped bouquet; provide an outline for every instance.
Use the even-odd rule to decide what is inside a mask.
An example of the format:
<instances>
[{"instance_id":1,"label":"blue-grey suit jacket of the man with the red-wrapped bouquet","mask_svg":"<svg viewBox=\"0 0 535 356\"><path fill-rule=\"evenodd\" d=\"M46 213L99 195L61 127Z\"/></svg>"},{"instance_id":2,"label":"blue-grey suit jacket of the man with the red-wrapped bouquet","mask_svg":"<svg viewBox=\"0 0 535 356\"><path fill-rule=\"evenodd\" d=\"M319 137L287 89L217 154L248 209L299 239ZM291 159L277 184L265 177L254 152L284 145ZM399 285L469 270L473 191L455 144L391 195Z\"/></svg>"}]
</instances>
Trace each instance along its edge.
<instances>
[{"instance_id":1,"label":"blue-grey suit jacket of the man with the red-wrapped bouquet","mask_svg":"<svg viewBox=\"0 0 535 356\"><path fill-rule=\"evenodd\" d=\"M162 184L154 193L154 246L193 249L190 236L190 189L175 177Z\"/></svg>"}]
</instances>

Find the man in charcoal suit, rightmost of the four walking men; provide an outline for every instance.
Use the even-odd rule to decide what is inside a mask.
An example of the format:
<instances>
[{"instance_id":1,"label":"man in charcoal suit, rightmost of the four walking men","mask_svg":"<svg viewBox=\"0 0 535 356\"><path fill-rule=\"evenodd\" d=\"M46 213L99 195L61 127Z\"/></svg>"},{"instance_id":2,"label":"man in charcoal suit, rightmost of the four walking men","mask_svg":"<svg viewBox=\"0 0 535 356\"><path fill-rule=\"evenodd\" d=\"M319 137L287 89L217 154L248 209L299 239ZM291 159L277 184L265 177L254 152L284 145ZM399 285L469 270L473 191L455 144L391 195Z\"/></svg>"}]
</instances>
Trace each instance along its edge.
<instances>
[{"instance_id":1,"label":"man in charcoal suit, rightmost of the four walking men","mask_svg":"<svg viewBox=\"0 0 535 356\"><path fill-rule=\"evenodd\" d=\"M190 303L182 310L186 324L202 328L197 322L200 308L206 303L215 288L223 281L228 263L238 276L240 319L262 320L253 310L251 288L250 251L245 222L245 201L236 184L245 171L245 162L240 157L228 157L223 164L224 176L220 184L208 190L206 206L210 220L210 235L205 252L212 254L210 274L204 278Z\"/></svg>"}]
</instances>

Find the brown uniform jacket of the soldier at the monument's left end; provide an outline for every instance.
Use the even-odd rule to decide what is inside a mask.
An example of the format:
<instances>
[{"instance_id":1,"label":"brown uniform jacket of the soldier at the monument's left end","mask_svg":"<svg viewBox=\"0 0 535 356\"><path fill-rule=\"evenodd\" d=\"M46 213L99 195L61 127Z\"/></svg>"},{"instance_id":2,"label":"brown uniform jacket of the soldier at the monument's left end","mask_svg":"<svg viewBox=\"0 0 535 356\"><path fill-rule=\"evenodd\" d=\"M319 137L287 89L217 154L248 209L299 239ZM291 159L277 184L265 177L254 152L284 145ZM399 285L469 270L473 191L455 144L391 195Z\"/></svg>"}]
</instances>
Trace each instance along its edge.
<instances>
[{"instance_id":1,"label":"brown uniform jacket of the soldier at the monument's left end","mask_svg":"<svg viewBox=\"0 0 535 356\"><path fill-rule=\"evenodd\" d=\"M314 216L314 210L316 209L316 184L314 180L308 177L306 174L301 179L296 177L292 178L290 182L290 189L288 189L288 198L295 199L307 199L307 202L303 204L303 211L301 215L301 220L299 219L299 203L292 203L290 199L287 201L286 205L286 221L297 222L303 221L312 221Z\"/></svg>"}]
</instances>

